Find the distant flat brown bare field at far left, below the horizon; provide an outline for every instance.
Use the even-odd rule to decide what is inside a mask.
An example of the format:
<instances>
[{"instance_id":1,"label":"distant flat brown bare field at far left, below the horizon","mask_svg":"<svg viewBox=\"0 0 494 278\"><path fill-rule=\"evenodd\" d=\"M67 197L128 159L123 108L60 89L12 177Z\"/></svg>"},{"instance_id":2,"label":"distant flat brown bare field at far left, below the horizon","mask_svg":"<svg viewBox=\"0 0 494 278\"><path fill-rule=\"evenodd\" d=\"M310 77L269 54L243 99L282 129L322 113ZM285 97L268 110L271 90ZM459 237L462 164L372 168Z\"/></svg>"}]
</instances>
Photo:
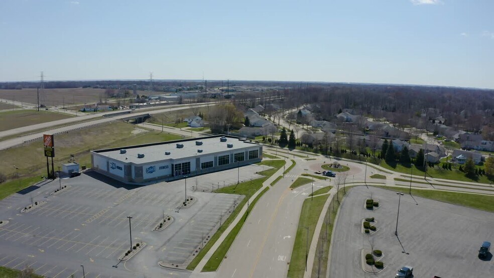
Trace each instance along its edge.
<instances>
[{"instance_id":1,"label":"distant flat brown bare field at far left, below the horizon","mask_svg":"<svg viewBox=\"0 0 494 278\"><path fill-rule=\"evenodd\" d=\"M14 101L24 101L28 103L38 103L37 89L22 90L0 90L0 98ZM48 106L62 106L75 103L94 103L99 101L100 94L104 89L93 88L66 88L66 89L45 89L40 91L40 103Z\"/></svg>"}]
</instances>

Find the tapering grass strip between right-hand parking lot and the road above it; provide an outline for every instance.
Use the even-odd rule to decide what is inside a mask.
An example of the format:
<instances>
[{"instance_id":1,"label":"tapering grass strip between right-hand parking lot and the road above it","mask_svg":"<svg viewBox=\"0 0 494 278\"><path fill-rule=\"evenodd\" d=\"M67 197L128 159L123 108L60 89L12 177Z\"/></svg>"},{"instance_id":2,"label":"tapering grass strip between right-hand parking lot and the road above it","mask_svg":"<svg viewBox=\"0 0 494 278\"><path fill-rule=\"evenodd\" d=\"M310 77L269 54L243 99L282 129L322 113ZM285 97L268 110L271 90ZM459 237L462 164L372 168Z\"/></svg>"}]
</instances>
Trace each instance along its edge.
<instances>
[{"instance_id":1,"label":"tapering grass strip between right-hand parking lot and the road above it","mask_svg":"<svg viewBox=\"0 0 494 278\"><path fill-rule=\"evenodd\" d=\"M402 192L406 194L409 193L408 188L382 187L382 186L376 186L376 187L389 189L396 192ZM429 190L429 189L422 189L422 190L412 189L412 194L414 196L424 197L424 198L446 202L454 205L460 205L474 209L494 212L494 196L448 192L441 190Z\"/></svg>"}]
</instances>

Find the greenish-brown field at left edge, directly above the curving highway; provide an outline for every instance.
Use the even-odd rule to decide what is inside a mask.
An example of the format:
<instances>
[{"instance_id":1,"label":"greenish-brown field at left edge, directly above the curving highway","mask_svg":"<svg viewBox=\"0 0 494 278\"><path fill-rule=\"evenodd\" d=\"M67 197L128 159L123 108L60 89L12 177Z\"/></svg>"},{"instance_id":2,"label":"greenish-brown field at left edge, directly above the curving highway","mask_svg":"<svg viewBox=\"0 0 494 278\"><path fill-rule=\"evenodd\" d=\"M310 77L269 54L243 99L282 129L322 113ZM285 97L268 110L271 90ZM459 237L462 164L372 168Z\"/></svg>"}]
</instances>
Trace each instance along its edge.
<instances>
[{"instance_id":1,"label":"greenish-brown field at left edge, directly above the curving highway","mask_svg":"<svg viewBox=\"0 0 494 278\"><path fill-rule=\"evenodd\" d=\"M14 110L0 113L0 131L32 124L54 121L72 117L67 114L36 111L36 110Z\"/></svg>"}]
</instances>

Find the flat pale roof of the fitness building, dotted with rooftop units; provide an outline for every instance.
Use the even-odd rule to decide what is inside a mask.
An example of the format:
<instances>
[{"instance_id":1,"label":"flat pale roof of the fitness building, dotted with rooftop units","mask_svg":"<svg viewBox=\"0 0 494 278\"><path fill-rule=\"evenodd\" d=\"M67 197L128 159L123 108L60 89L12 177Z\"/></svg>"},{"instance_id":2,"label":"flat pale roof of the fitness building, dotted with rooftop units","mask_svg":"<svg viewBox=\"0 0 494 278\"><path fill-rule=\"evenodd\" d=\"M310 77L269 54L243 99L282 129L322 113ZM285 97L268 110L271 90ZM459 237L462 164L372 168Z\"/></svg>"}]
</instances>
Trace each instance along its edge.
<instances>
[{"instance_id":1,"label":"flat pale roof of the fitness building, dotted with rooftop units","mask_svg":"<svg viewBox=\"0 0 494 278\"><path fill-rule=\"evenodd\" d=\"M225 137L226 142L221 142L220 138ZM196 142L202 142L202 145L196 145ZM177 148L177 144L183 145L183 148ZM227 145L233 145L228 148ZM190 138L185 140L175 140L145 145L105 149L93 151L109 159L121 162L132 162L135 164L145 164L167 159L183 159L196 155L204 156L215 153L240 150L246 147L259 146L258 143L245 140L241 137L228 135L215 135L207 137ZM126 150L125 154L120 154L120 150ZM198 150L202 150L199 153ZM169 155L165 153L169 152ZM143 158L138 158L138 154L143 154Z\"/></svg>"}]
</instances>

